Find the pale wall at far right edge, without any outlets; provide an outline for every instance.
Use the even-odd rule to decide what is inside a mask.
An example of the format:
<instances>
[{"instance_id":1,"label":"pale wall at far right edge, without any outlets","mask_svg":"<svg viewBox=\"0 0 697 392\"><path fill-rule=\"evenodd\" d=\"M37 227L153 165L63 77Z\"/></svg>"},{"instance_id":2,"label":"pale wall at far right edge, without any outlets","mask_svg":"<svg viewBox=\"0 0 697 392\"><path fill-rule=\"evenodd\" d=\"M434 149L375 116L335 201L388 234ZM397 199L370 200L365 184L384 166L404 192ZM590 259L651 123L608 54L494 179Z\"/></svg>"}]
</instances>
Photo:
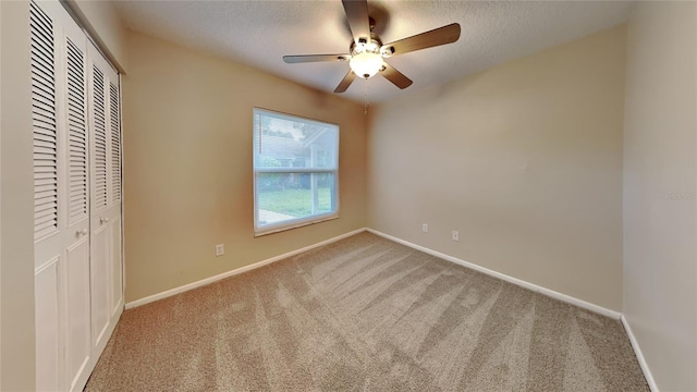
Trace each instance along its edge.
<instances>
[{"instance_id":1,"label":"pale wall at far right edge, without any outlets","mask_svg":"<svg viewBox=\"0 0 697 392\"><path fill-rule=\"evenodd\" d=\"M697 3L629 20L624 315L661 391L697 390Z\"/></svg>"}]
</instances>

